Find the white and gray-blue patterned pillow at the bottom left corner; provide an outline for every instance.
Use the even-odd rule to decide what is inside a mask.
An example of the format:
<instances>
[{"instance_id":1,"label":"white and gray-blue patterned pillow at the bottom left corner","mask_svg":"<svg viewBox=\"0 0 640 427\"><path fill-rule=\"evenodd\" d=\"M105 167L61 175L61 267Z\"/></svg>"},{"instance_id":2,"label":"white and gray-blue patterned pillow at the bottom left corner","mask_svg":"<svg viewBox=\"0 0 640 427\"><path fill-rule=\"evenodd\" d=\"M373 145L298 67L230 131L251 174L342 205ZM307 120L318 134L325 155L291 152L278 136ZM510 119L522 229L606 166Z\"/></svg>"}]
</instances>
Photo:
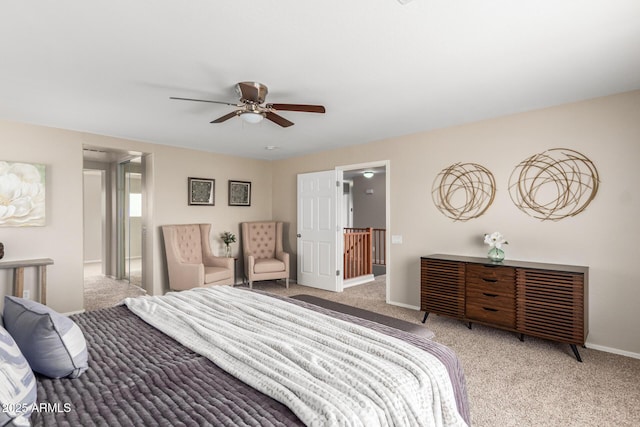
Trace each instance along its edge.
<instances>
[{"instance_id":1,"label":"white and gray-blue patterned pillow at the bottom left corner","mask_svg":"<svg viewBox=\"0 0 640 427\"><path fill-rule=\"evenodd\" d=\"M28 426L36 403L36 379L16 342L0 326L0 425Z\"/></svg>"}]
</instances>

